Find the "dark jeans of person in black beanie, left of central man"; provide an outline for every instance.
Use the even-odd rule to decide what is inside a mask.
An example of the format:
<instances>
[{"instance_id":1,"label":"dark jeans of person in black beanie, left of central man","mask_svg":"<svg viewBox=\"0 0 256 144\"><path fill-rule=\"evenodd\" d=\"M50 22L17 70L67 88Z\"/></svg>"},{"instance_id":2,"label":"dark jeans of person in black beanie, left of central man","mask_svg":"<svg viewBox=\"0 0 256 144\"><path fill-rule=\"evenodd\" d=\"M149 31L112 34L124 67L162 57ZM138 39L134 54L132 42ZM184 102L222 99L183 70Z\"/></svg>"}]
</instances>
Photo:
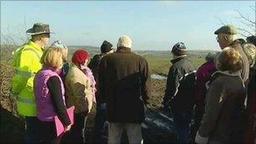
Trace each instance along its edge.
<instances>
[{"instance_id":1,"label":"dark jeans of person in black beanie, left of central man","mask_svg":"<svg viewBox=\"0 0 256 144\"><path fill-rule=\"evenodd\" d=\"M97 104L97 111L94 123L94 141L102 143L104 141L104 123L106 121L106 104Z\"/></svg>"}]
</instances>

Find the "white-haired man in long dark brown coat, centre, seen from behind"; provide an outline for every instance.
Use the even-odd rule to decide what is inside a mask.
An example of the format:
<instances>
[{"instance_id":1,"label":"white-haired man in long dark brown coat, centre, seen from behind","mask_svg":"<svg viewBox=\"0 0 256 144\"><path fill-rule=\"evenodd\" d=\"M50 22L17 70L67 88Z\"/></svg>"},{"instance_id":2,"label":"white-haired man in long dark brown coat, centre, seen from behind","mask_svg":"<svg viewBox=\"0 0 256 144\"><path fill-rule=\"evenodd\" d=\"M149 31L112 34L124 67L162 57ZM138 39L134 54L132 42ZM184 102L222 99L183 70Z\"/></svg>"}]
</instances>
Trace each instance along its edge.
<instances>
[{"instance_id":1,"label":"white-haired man in long dark brown coat, centre, seen from behind","mask_svg":"<svg viewBox=\"0 0 256 144\"><path fill-rule=\"evenodd\" d=\"M141 123L147 104L148 65L131 52L131 39L123 35L117 51L104 56L99 65L99 93L106 102L108 143L120 143L125 130L129 143L141 143Z\"/></svg>"}]
</instances>

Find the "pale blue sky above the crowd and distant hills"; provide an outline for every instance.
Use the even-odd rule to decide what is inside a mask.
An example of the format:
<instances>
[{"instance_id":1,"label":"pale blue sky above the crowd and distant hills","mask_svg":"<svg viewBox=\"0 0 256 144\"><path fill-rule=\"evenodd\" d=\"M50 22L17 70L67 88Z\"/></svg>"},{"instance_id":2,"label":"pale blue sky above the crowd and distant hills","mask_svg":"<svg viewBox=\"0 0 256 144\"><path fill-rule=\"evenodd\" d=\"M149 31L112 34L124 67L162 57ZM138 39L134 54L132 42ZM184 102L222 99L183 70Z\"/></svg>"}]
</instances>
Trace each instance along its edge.
<instances>
[{"instance_id":1,"label":"pale blue sky above the crowd and distant hills","mask_svg":"<svg viewBox=\"0 0 256 144\"><path fill-rule=\"evenodd\" d=\"M223 24L248 29L237 19L255 21L256 1L1 1L3 35L19 41L26 29L50 24L51 41L67 45L115 47L129 35L135 50L171 50L182 41L188 50L219 50L214 31Z\"/></svg>"}]
</instances>

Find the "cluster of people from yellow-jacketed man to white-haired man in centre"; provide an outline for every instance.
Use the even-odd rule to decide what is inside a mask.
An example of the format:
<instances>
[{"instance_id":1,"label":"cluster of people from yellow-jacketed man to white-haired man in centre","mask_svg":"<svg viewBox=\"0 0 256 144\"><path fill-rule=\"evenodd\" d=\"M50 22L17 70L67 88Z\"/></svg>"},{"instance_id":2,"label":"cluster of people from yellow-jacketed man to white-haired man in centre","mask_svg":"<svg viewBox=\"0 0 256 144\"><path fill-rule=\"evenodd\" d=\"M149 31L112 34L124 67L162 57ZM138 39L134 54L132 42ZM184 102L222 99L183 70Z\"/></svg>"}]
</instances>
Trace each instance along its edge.
<instances>
[{"instance_id":1,"label":"cluster of people from yellow-jacketed man to white-haired man in centre","mask_svg":"<svg viewBox=\"0 0 256 144\"><path fill-rule=\"evenodd\" d=\"M104 142L107 121L108 143L120 143L123 130L131 143L141 143L148 65L131 51L129 36L120 37L115 52L104 40L101 54L91 61L88 51L80 49L69 63L67 45L60 40L46 48L51 36L49 24L36 23L27 34L31 40L13 52L12 61L12 93L19 115L24 115L26 142L83 143L86 120L96 102L95 142ZM73 125L67 113L72 106ZM60 136L56 133L56 116L64 127Z\"/></svg>"}]
</instances>

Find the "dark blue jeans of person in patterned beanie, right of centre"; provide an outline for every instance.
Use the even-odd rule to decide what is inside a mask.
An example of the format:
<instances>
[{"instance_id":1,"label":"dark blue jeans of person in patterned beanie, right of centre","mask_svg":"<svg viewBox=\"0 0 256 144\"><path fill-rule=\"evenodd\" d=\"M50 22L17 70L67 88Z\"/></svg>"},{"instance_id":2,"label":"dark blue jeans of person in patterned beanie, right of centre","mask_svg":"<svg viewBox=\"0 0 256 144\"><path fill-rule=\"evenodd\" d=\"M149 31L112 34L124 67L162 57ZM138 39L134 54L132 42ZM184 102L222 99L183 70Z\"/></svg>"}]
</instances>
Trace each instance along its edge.
<instances>
[{"instance_id":1,"label":"dark blue jeans of person in patterned beanie, right of centre","mask_svg":"<svg viewBox=\"0 0 256 144\"><path fill-rule=\"evenodd\" d=\"M191 122L191 113L173 112L173 122L176 135L180 143L189 142L189 123Z\"/></svg>"}]
</instances>

